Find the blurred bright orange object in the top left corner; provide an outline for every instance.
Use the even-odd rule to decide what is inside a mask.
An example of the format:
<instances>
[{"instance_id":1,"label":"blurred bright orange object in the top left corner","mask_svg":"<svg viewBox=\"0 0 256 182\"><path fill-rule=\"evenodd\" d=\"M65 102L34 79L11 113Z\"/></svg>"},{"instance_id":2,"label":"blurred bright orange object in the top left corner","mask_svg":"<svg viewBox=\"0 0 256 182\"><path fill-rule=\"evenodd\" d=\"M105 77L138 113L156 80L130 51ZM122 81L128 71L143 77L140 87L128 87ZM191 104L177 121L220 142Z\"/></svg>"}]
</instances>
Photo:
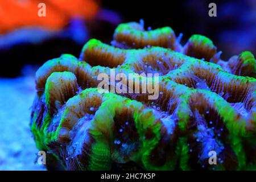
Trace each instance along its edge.
<instances>
[{"instance_id":1,"label":"blurred bright orange object in the top left corner","mask_svg":"<svg viewBox=\"0 0 256 182\"><path fill-rule=\"evenodd\" d=\"M46 5L46 16L39 16L39 3ZM0 0L0 34L24 26L58 30L73 16L92 19L99 9L96 0Z\"/></svg>"}]
</instances>

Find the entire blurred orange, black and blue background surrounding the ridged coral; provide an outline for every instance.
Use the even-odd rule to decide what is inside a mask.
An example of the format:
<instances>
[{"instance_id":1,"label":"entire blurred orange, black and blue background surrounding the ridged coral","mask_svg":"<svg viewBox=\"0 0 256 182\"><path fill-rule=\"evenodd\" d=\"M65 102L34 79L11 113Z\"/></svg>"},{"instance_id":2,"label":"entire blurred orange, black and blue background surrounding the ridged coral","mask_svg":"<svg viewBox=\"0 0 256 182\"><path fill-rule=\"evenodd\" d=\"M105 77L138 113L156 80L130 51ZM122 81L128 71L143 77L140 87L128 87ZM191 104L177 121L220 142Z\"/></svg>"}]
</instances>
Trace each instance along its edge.
<instances>
[{"instance_id":1,"label":"entire blurred orange, black and blue background surrounding the ridged coral","mask_svg":"<svg viewBox=\"0 0 256 182\"><path fill-rule=\"evenodd\" d=\"M46 17L38 16L42 2ZM208 16L211 2L217 17ZM45 170L28 125L36 69L62 53L78 57L90 38L110 43L119 23L140 19L145 27L183 33L182 44L205 35L223 60L242 51L256 55L255 0L0 0L0 170Z\"/></svg>"}]
</instances>

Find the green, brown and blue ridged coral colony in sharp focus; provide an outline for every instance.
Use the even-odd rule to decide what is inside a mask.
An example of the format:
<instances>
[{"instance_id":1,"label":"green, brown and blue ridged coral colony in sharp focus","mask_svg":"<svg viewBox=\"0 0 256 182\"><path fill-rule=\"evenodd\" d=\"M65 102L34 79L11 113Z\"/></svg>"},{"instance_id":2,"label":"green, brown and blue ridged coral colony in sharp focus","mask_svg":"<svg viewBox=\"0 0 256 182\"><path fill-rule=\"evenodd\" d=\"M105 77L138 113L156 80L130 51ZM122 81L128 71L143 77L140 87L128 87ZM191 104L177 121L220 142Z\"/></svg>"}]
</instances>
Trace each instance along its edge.
<instances>
[{"instance_id":1,"label":"green, brown and blue ridged coral colony in sharp focus","mask_svg":"<svg viewBox=\"0 0 256 182\"><path fill-rule=\"evenodd\" d=\"M205 36L184 46L180 38L170 27L145 31L143 23L124 23L112 46L92 39L79 59L61 55L40 67L31 130L48 166L256 169L254 56L245 51L224 61ZM139 84L129 85L129 73ZM145 82L158 97L142 92Z\"/></svg>"}]
</instances>

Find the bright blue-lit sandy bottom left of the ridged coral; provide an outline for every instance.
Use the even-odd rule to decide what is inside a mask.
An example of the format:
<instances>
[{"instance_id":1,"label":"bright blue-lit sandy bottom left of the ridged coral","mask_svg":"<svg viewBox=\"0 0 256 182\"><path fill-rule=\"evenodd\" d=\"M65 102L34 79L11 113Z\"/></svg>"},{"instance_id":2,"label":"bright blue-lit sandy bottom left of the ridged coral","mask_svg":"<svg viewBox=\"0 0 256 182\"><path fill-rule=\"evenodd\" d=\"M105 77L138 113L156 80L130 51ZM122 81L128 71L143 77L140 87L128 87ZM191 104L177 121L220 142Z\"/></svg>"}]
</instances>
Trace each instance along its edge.
<instances>
[{"instance_id":1,"label":"bright blue-lit sandy bottom left of the ridged coral","mask_svg":"<svg viewBox=\"0 0 256 182\"><path fill-rule=\"evenodd\" d=\"M0 78L0 170L45 170L29 127L34 77Z\"/></svg>"}]
</instances>

